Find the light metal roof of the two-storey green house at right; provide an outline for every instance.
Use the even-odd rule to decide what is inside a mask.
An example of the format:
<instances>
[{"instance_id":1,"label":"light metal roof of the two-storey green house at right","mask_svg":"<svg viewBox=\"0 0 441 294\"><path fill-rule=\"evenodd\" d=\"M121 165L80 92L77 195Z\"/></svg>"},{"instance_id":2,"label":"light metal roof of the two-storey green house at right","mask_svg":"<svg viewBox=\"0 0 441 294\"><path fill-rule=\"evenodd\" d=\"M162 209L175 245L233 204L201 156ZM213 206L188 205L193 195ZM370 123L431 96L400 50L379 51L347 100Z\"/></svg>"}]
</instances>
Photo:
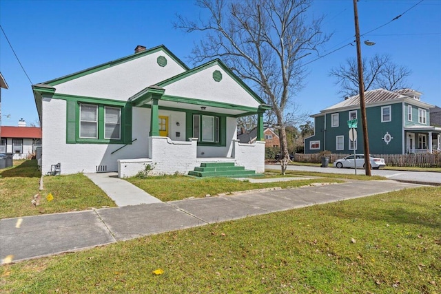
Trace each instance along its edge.
<instances>
[{"instance_id":1,"label":"light metal roof of the two-storey green house at right","mask_svg":"<svg viewBox=\"0 0 441 294\"><path fill-rule=\"evenodd\" d=\"M402 94L400 94L402 93ZM407 100L407 102L413 102L418 105L424 105L425 107L431 108L433 105L430 105L428 103L424 103L422 101L418 101L413 98L409 98L409 96L404 95L409 93L416 93L420 94L420 92L417 92L415 90L411 89L402 89L397 91L389 91L385 89L376 89L376 90L370 90L365 92L365 103L366 105L372 105L372 104L380 104L380 103L387 103L388 101L404 101ZM323 109L321 112L327 112L329 110L334 109L341 109L341 108L358 108L360 107L360 95L351 96L345 101L342 101L340 103L334 104L330 107L327 107Z\"/></svg>"}]
</instances>

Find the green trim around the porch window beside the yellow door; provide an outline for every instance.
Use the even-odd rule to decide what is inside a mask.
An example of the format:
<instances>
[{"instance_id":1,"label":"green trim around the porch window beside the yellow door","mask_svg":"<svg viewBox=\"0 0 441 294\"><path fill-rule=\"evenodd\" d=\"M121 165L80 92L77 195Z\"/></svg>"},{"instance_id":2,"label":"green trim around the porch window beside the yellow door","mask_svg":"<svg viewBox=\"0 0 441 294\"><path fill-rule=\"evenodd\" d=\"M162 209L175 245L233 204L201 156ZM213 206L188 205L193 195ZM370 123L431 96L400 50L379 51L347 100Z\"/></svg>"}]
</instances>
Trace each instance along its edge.
<instances>
[{"instance_id":1,"label":"green trim around the porch window beside the yellow door","mask_svg":"<svg viewBox=\"0 0 441 294\"><path fill-rule=\"evenodd\" d=\"M214 140L212 142L202 141L203 132L203 116L212 116L214 118ZM198 123L199 136L195 137L194 123ZM227 116L220 116L218 114L212 114L207 112L187 112L186 117L186 133L192 134L193 138L199 138L198 146L218 146L225 147L227 145ZM188 140L188 138L187 138Z\"/></svg>"}]
</instances>

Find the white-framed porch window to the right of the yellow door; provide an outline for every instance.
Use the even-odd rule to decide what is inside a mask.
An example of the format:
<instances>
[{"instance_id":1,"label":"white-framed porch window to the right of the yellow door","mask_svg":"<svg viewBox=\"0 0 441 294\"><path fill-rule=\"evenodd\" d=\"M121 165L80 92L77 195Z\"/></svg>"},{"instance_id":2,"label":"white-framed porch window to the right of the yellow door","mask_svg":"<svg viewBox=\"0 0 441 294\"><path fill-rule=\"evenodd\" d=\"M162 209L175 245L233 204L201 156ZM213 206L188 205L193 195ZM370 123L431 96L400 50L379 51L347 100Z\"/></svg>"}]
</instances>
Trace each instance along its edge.
<instances>
[{"instance_id":1,"label":"white-framed porch window to the right of the yellow door","mask_svg":"<svg viewBox=\"0 0 441 294\"><path fill-rule=\"evenodd\" d=\"M200 143L220 143L220 118L205 114L193 115L193 138Z\"/></svg>"}]
</instances>

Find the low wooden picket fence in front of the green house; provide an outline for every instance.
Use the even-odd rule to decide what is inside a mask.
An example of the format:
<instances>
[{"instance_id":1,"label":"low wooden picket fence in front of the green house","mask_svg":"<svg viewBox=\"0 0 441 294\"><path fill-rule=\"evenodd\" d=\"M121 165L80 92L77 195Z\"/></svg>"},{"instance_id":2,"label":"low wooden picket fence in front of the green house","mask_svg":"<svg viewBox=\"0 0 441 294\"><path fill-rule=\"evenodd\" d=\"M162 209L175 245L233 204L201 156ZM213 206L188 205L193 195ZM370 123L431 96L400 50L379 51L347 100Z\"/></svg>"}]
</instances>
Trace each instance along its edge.
<instances>
[{"instance_id":1,"label":"low wooden picket fence in front of the green house","mask_svg":"<svg viewBox=\"0 0 441 294\"><path fill-rule=\"evenodd\" d=\"M329 158L329 162L349 156L351 154L294 154L294 161L320 163L322 156ZM371 154L374 157L384 158L389 167L441 167L441 154Z\"/></svg>"}]
</instances>

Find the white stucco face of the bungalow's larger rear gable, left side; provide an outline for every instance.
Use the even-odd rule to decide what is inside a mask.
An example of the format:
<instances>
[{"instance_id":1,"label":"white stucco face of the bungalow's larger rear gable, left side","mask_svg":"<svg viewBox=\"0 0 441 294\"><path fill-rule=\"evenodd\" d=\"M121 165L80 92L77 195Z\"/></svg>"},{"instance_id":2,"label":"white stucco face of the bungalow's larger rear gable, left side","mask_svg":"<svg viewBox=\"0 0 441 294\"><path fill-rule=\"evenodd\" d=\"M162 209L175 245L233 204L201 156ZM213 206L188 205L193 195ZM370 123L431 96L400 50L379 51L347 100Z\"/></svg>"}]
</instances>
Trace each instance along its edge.
<instances>
[{"instance_id":1,"label":"white stucco face of the bungalow's larger rear gable, left side","mask_svg":"<svg viewBox=\"0 0 441 294\"><path fill-rule=\"evenodd\" d=\"M157 63L158 56L165 56L167 65ZM55 85L57 94L70 94L127 101L127 98L185 70L163 51L154 52L132 61L108 67L99 72L80 76Z\"/></svg>"}]
</instances>

